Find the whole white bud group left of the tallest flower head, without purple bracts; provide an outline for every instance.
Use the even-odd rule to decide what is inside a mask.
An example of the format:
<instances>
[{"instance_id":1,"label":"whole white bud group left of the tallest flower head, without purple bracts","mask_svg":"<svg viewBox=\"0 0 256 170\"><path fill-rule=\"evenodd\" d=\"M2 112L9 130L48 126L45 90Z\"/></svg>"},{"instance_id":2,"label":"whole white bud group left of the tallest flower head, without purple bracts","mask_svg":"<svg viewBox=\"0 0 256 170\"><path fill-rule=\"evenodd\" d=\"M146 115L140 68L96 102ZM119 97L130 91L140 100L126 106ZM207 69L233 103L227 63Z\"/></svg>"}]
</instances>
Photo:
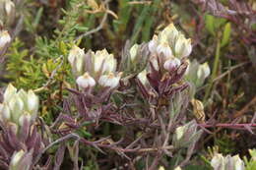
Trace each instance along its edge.
<instances>
[{"instance_id":1,"label":"whole white bud group left of the tallest flower head, without purple bracts","mask_svg":"<svg viewBox=\"0 0 256 170\"><path fill-rule=\"evenodd\" d=\"M74 45L68 60L77 77L77 85L83 89L96 85L112 89L119 85L122 73L116 73L116 59L105 49L85 54L84 49Z\"/></svg>"}]
</instances>

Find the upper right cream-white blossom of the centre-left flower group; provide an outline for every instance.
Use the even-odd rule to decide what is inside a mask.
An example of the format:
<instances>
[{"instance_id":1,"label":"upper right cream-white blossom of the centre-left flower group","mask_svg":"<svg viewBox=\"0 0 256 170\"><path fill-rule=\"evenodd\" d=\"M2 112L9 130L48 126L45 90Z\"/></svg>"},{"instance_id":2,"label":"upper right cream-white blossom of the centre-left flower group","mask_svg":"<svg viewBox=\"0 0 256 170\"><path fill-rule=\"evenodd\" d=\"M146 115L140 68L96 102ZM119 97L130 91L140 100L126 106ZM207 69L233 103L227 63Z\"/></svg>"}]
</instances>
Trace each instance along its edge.
<instances>
[{"instance_id":1,"label":"upper right cream-white blossom of the centre-left flower group","mask_svg":"<svg viewBox=\"0 0 256 170\"><path fill-rule=\"evenodd\" d=\"M109 54L106 49L93 52L93 62L95 66L95 73L101 71L101 73L115 72L116 70L116 60L113 54Z\"/></svg>"}]
</instances>

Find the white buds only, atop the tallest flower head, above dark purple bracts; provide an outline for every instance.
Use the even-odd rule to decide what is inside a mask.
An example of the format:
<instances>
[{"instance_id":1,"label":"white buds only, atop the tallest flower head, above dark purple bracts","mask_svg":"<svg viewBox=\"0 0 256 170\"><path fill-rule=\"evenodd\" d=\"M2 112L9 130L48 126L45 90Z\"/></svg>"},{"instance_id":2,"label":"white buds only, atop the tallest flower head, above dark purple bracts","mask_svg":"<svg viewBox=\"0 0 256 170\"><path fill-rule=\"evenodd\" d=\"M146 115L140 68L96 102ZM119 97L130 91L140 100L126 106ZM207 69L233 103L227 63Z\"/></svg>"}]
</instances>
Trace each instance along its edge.
<instances>
[{"instance_id":1,"label":"white buds only, atop the tallest flower head, above dark purple bracts","mask_svg":"<svg viewBox=\"0 0 256 170\"><path fill-rule=\"evenodd\" d=\"M181 65L181 60L190 55L191 39L186 39L183 33L170 24L159 35L154 35L149 42L149 50L150 61L155 70L163 67L166 71L173 72Z\"/></svg>"}]
</instances>

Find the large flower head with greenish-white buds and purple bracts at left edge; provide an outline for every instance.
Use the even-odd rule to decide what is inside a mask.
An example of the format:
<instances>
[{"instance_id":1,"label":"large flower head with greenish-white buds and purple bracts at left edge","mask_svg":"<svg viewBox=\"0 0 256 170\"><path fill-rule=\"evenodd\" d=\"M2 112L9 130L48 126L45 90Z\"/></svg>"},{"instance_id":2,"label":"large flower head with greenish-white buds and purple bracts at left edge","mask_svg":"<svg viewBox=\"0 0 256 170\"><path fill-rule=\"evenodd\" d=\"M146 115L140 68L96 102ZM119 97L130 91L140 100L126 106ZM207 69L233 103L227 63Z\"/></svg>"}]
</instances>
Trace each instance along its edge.
<instances>
[{"instance_id":1,"label":"large flower head with greenish-white buds and purple bracts at left edge","mask_svg":"<svg viewBox=\"0 0 256 170\"><path fill-rule=\"evenodd\" d=\"M13 85L6 88L0 103L0 167L3 169L29 169L33 158L47 144L35 125L38 106L38 97L32 90L18 91Z\"/></svg>"}]
</instances>

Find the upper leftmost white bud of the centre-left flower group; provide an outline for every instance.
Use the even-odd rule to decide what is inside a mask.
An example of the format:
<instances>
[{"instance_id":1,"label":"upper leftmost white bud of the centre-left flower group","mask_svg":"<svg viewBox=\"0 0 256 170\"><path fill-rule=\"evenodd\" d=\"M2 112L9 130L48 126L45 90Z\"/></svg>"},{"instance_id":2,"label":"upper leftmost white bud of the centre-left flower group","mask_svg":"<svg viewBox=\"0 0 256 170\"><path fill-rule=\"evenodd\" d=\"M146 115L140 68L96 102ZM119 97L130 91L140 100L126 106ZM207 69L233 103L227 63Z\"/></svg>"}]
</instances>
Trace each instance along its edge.
<instances>
[{"instance_id":1,"label":"upper leftmost white bud of the centre-left flower group","mask_svg":"<svg viewBox=\"0 0 256 170\"><path fill-rule=\"evenodd\" d=\"M74 45L69 52L68 61L77 74L83 72L85 55L84 49L79 48L77 45Z\"/></svg>"}]
</instances>

